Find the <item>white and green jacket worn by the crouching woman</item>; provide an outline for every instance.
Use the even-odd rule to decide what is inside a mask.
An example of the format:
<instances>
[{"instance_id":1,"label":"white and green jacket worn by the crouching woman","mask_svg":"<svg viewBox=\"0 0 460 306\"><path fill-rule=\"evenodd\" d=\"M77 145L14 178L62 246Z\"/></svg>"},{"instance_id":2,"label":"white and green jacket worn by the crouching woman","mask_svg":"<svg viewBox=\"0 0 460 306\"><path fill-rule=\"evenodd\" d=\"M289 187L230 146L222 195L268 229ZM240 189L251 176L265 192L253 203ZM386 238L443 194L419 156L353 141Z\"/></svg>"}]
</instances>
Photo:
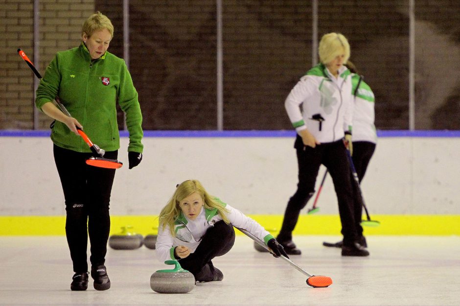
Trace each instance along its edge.
<instances>
[{"instance_id":1,"label":"white and green jacket worn by the crouching woman","mask_svg":"<svg viewBox=\"0 0 460 306\"><path fill-rule=\"evenodd\" d=\"M246 229L261 241L267 242L275 238L273 237L262 225L249 218L241 211L231 207L228 204L220 202L229 212L227 218L235 227ZM157 258L162 263L166 260L175 259L174 248L178 245L184 245L193 253L198 245L201 243L201 238L206 233L207 229L214 226L214 223L221 221L222 217L218 214L217 208L206 209L202 208L200 215L195 220L189 220L181 212L174 222L174 229L176 236L171 235L169 225L163 229L162 226L158 228L158 236L156 243Z\"/></svg>"}]
</instances>

